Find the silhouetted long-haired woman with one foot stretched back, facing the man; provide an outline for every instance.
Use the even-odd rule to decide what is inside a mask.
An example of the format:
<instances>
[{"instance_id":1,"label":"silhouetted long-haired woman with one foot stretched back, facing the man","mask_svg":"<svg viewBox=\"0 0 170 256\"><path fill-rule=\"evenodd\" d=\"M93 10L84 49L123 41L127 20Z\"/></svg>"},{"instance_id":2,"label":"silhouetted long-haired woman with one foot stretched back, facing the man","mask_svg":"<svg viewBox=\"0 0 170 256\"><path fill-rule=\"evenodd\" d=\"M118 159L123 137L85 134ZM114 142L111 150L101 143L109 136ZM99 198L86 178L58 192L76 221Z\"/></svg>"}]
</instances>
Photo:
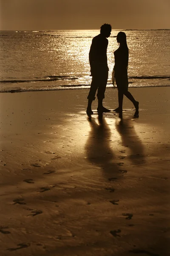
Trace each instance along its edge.
<instances>
[{"instance_id":1,"label":"silhouetted long-haired woman with one foot stretched back, facing the man","mask_svg":"<svg viewBox=\"0 0 170 256\"><path fill-rule=\"evenodd\" d=\"M128 91L128 78L127 78L127 67L129 50L126 42L126 34L124 32L119 32L117 34L117 42L119 43L119 48L114 52L115 65L113 68L114 77L116 80L116 85L118 88L118 100L119 107L113 111L118 112L122 116L122 105L123 105L123 95L125 95L136 108L134 117L139 116L139 102L137 102L132 94Z\"/></svg>"}]
</instances>

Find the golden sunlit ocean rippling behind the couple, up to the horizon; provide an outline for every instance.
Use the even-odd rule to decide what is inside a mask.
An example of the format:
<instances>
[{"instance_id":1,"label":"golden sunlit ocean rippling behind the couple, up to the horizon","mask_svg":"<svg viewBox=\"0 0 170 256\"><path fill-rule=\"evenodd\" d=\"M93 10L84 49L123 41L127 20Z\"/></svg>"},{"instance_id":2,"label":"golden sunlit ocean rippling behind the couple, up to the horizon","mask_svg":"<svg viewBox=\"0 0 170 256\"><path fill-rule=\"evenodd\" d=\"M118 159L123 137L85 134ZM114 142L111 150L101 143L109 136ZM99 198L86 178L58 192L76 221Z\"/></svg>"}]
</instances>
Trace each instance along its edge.
<instances>
[{"instance_id":1,"label":"golden sunlit ocean rippling behind the couple, up to the horizon","mask_svg":"<svg viewBox=\"0 0 170 256\"><path fill-rule=\"evenodd\" d=\"M113 52L108 38L109 78ZM129 87L170 86L170 29L122 30L129 48ZM85 89L91 84L88 53L99 30L0 31L0 92Z\"/></svg>"}]
</instances>

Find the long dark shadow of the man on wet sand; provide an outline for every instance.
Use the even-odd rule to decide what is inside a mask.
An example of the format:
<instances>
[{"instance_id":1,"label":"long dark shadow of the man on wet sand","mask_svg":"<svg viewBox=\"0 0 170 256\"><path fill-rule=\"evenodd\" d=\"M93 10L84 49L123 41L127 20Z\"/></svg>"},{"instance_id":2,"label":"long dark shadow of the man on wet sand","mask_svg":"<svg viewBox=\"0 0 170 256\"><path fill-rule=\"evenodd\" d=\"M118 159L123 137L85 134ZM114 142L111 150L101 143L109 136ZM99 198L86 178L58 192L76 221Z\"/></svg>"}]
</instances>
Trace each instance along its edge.
<instances>
[{"instance_id":1,"label":"long dark shadow of the man on wet sand","mask_svg":"<svg viewBox=\"0 0 170 256\"><path fill-rule=\"evenodd\" d=\"M118 166L113 162L115 156L110 144L111 129L105 117L98 116L98 119L90 118L88 121L91 126L85 145L88 161L101 167L107 178L118 176L120 172Z\"/></svg>"}]
</instances>

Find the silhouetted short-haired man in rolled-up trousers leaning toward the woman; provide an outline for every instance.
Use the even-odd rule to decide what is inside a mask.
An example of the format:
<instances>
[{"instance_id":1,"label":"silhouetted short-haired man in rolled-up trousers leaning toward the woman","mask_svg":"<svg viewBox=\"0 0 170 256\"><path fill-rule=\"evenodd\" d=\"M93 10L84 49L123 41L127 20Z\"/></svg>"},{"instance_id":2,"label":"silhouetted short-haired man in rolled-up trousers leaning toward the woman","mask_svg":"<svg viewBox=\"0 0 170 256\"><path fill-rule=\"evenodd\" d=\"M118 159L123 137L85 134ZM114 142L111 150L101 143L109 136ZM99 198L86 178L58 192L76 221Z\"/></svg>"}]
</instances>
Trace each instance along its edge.
<instances>
[{"instance_id":1,"label":"silhouetted short-haired man in rolled-up trousers leaning toward the woman","mask_svg":"<svg viewBox=\"0 0 170 256\"><path fill-rule=\"evenodd\" d=\"M92 40L89 62L91 67L91 88L88 94L88 107L86 113L88 116L93 114L91 104L95 100L96 90L98 99L98 113L110 112L109 109L103 107L103 99L105 98L105 89L108 81L108 37L111 35L111 25L103 24L100 28L100 34Z\"/></svg>"}]
</instances>

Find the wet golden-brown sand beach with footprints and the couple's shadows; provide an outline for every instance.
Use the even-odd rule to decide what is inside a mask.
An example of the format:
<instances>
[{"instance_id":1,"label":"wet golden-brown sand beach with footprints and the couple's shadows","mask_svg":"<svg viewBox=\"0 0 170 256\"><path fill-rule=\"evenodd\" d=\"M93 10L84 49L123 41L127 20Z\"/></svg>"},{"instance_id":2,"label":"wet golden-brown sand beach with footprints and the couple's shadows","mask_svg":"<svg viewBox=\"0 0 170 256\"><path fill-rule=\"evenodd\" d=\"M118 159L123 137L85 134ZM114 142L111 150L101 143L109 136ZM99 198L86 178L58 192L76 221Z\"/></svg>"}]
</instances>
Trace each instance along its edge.
<instances>
[{"instance_id":1,"label":"wet golden-brown sand beach with footprints and the couple's shadows","mask_svg":"<svg viewBox=\"0 0 170 256\"><path fill-rule=\"evenodd\" d=\"M129 91L0 93L0 255L170 255L170 87Z\"/></svg>"}]
</instances>

